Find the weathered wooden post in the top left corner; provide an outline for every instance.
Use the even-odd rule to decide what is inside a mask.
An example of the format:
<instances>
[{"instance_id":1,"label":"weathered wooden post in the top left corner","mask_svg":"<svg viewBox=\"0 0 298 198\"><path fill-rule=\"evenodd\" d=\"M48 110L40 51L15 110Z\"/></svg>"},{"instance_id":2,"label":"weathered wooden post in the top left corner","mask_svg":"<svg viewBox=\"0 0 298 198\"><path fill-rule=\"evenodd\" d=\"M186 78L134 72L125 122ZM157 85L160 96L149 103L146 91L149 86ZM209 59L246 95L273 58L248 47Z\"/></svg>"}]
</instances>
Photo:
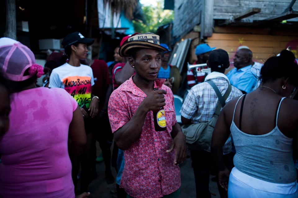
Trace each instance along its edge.
<instances>
[{"instance_id":1,"label":"weathered wooden post in the top left corner","mask_svg":"<svg viewBox=\"0 0 298 198\"><path fill-rule=\"evenodd\" d=\"M4 37L16 39L16 0L6 0L6 31Z\"/></svg>"}]
</instances>

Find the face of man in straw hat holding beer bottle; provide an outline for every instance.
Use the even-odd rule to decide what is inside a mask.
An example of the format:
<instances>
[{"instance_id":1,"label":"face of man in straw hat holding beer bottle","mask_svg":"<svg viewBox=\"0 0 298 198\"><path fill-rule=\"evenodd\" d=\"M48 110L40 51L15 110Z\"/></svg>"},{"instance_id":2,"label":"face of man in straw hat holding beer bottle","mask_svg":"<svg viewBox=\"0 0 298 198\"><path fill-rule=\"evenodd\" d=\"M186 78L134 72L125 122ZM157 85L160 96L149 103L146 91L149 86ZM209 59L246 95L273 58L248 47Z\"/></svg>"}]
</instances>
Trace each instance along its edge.
<instances>
[{"instance_id":1,"label":"face of man in straw hat holding beer bottle","mask_svg":"<svg viewBox=\"0 0 298 198\"><path fill-rule=\"evenodd\" d=\"M129 58L129 63L134 66L136 76L147 82L154 81L161 66L160 51L156 49L140 49L136 59Z\"/></svg>"}]
</instances>

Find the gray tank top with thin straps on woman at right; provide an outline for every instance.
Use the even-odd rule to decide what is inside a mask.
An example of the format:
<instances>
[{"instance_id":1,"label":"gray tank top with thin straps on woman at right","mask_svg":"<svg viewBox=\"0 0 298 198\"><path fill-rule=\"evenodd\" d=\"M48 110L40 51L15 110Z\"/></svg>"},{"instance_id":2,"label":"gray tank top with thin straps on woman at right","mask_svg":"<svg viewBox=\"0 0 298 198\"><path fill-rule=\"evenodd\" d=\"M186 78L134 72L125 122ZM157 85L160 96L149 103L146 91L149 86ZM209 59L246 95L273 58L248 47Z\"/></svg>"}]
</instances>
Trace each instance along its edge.
<instances>
[{"instance_id":1,"label":"gray tank top with thin straps on woman at right","mask_svg":"<svg viewBox=\"0 0 298 198\"><path fill-rule=\"evenodd\" d=\"M251 135L241 131L242 108L240 111L240 129L235 125L235 110L240 98L235 105L230 127L236 148L233 160L235 167L245 174L271 183L296 181L297 172L293 162L293 138L283 135L277 126L278 112L284 97L278 104L274 129L264 135ZM244 99L245 97L242 101Z\"/></svg>"}]
</instances>

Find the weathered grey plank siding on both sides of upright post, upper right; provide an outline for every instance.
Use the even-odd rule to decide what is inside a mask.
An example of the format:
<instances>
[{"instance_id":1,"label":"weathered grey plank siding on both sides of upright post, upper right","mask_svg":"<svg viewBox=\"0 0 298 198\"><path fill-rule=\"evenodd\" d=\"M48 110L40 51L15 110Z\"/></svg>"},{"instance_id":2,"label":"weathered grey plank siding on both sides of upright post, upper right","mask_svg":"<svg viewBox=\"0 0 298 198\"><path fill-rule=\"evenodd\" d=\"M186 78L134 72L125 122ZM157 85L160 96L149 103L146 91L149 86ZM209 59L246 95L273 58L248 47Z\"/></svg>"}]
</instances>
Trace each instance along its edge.
<instances>
[{"instance_id":1,"label":"weathered grey plank siding on both sides of upright post, upper right","mask_svg":"<svg viewBox=\"0 0 298 198\"><path fill-rule=\"evenodd\" d=\"M183 37L195 25L201 22L203 14L203 1L210 0L175 0L173 36ZM289 6L291 0L213 0L213 19L232 19L234 16L242 14L250 8L261 8L261 12L246 17L249 21L264 20L282 12ZM298 11L298 1L293 5L293 10ZM297 18L287 21L298 21ZM202 28L204 30L204 28Z\"/></svg>"}]
</instances>

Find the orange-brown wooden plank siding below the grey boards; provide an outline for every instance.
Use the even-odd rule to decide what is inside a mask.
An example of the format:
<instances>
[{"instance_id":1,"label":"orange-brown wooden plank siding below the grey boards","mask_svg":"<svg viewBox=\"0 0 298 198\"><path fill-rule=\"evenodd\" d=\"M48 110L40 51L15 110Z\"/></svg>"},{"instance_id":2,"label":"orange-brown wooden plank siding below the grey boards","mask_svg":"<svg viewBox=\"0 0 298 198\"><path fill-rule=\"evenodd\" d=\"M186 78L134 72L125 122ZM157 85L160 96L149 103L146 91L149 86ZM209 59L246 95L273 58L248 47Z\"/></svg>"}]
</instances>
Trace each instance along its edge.
<instances>
[{"instance_id":1,"label":"orange-brown wooden plank siding below the grey boards","mask_svg":"<svg viewBox=\"0 0 298 198\"><path fill-rule=\"evenodd\" d=\"M224 49L228 52L230 61L241 45L248 46L253 52L253 60L264 62L273 54L278 54L289 45L297 58L298 36L273 36L273 35L250 35L250 34L225 34L213 33L212 37L205 40L210 47Z\"/></svg>"}]
</instances>

